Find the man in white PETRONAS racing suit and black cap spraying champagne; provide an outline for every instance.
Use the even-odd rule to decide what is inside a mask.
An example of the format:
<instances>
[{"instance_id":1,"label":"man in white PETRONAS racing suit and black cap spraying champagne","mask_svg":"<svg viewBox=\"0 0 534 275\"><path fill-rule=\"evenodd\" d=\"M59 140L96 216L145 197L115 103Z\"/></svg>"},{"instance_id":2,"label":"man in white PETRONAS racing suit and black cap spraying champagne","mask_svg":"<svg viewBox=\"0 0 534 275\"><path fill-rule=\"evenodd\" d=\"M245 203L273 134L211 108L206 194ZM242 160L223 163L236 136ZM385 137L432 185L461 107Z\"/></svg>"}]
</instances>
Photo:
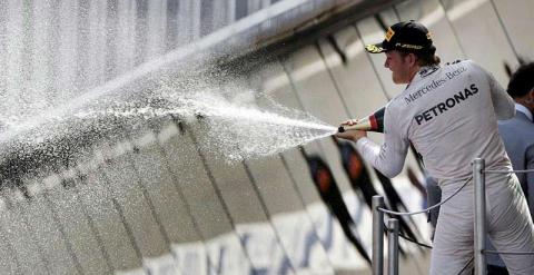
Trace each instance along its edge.
<instances>
[{"instance_id":1,"label":"man in white PETRONAS racing suit and black cap spraying champagne","mask_svg":"<svg viewBox=\"0 0 534 275\"><path fill-rule=\"evenodd\" d=\"M497 119L514 117L514 101L473 61L441 67L431 33L415 21L393 24L382 43L366 49L385 52L393 81L407 88L386 106L382 146L360 130L336 136L356 141L362 156L388 177L400 173L412 143L429 175L438 179L443 198L469 180L441 207L431 259L431 274L459 274L473 256L471 163L481 157L487 169L512 170ZM486 204L487 230L497 251L534 252L534 225L513 173L486 174ZM511 274L534 274L534 255L502 258ZM471 268L464 273L471 274Z\"/></svg>"}]
</instances>

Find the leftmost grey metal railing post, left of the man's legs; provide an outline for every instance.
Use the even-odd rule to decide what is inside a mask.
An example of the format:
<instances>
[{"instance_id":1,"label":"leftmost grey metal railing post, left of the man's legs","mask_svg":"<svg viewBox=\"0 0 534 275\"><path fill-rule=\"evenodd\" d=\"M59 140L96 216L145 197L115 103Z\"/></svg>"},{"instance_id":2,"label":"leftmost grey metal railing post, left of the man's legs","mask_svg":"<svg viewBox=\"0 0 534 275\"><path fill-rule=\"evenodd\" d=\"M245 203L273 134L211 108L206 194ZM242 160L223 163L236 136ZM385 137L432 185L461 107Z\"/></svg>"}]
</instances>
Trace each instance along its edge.
<instances>
[{"instance_id":1,"label":"leftmost grey metal railing post, left of the man's legs","mask_svg":"<svg viewBox=\"0 0 534 275\"><path fill-rule=\"evenodd\" d=\"M384 197L373 196L373 275L384 274Z\"/></svg>"}]
</instances>

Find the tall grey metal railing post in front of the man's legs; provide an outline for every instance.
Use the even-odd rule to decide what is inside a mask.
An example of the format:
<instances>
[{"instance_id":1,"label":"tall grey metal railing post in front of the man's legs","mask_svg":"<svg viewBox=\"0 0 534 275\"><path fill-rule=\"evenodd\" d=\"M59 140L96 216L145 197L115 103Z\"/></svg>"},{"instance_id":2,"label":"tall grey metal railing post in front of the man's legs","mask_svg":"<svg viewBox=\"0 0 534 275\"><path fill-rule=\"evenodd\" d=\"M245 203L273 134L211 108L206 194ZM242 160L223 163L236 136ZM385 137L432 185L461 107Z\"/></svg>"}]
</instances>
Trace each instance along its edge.
<instances>
[{"instance_id":1,"label":"tall grey metal railing post in front of the man's legs","mask_svg":"<svg viewBox=\"0 0 534 275\"><path fill-rule=\"evenodd\" d=\"M473 180L475 185L475 275L486 274L486 188L484 176L484 159L473 160Z\"/></svg>"}]
</instances>

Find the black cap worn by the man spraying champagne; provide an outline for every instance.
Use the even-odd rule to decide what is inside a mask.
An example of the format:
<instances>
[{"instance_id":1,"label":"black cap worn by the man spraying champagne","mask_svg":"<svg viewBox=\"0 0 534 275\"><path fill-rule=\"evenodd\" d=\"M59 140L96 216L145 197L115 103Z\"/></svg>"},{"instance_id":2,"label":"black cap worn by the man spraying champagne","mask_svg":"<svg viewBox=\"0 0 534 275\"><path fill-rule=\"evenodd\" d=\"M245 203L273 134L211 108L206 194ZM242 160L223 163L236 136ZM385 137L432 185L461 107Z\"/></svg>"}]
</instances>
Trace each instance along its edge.
<instances>
[{"instance_id":1,"label":"black cap worn by the man spraying champagne","mask_svg":"<svg viewBox=\"0 0 534 275\"><path fill-rule=\"evenodd\" d=\"M387 29L384 41L367 45L365 49L370 53L379 53L387 50L428 52L432 55L436 52L436 47L432 45L428 29L414 20L393 24Z\"/></svg>"}]
</instances>

